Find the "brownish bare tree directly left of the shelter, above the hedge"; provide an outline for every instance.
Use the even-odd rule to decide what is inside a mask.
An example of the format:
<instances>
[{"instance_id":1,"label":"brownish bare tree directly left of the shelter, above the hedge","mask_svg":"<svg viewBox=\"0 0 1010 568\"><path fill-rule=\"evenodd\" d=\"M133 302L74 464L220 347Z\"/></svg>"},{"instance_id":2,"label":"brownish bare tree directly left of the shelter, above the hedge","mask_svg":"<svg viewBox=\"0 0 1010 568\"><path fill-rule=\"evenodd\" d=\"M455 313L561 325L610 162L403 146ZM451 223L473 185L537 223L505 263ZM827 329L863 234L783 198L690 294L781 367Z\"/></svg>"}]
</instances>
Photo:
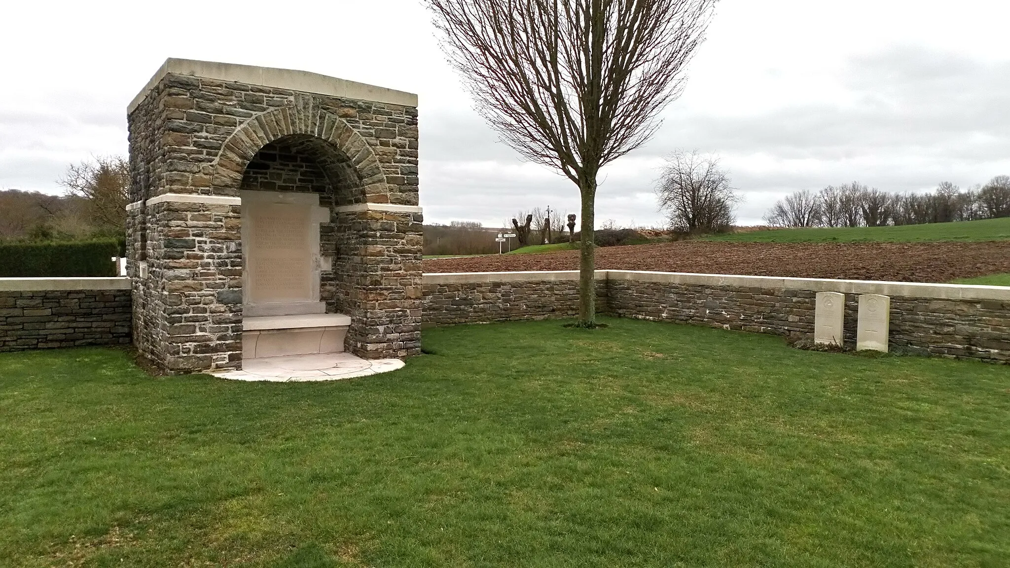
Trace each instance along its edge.
<instances>
[{"instance_id":1,"label":"brownish bare tree directly left of the shelter, above the hedge","mask_svg":"<svg viewBox=\"0 0 1010 568\"><path fill-rule=\"evenodd\" d=\"M129 201L129 163L121 156L97 157L67 168L60 180L71 195L88 200L91 222L103 231L122 235Z\"/></svg>"}]
</instances>

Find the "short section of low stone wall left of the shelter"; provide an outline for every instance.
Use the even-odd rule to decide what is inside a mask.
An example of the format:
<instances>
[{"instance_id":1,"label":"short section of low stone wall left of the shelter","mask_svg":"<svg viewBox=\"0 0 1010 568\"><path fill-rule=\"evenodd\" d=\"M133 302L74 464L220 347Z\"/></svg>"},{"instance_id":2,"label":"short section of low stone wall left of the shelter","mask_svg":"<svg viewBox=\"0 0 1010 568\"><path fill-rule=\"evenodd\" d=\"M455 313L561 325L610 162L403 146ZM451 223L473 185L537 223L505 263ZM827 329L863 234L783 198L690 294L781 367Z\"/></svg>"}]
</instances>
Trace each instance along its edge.
<instances>
[{"instance_id":1,"label":"short section of low stone wall left of the shelter","mask_svg":"<svg viewBox=\"0 0 1010 568\"><path fill-rule=\"evenodd\" d=\"M128 278L0 279L0 352L129 343Z\"/></svg>"}]
</instances>

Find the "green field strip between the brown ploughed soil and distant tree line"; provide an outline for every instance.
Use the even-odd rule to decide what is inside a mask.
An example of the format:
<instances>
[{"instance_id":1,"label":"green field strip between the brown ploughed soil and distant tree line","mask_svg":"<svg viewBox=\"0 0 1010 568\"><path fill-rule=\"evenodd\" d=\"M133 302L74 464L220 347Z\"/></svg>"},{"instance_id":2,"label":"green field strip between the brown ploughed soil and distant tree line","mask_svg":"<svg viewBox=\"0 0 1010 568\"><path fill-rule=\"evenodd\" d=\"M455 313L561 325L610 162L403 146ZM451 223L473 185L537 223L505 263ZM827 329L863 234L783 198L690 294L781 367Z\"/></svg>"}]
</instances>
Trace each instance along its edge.
<instances>
[{"instance_id":1,"label":"green field strip between the brown ploughed soil and distant tree line","mask_svg":"<svg viewBox=\"0 0 1010 568\"><path fill-rule=\"evenodd\" d=\"M1008 239L1010 239L1010 217L902 226L781 228L703 238L705 241L737 243L929 243Z\"/></svg>"}]
</instances>

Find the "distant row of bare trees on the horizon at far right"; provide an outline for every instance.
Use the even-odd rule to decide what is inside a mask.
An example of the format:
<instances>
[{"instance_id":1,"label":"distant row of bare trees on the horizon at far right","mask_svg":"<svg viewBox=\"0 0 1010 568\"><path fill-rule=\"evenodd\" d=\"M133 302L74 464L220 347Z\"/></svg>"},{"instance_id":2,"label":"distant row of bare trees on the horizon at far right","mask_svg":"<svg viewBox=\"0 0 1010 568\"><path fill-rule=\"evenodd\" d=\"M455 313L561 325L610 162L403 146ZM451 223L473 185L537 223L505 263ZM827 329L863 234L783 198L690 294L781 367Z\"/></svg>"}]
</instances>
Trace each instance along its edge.
<instances>
[{"instance_id":1,"label":"distant row of bare trees on the horizon at far right","mask_svg":"<svg viewBox=\"0 0 1010 568\"><path fill-rule=\"evenodd\" d=\"M928 193L892 193L860 182L797 191L776 202L765 222L777 226L884 226L1010 216L1010 176L962 190L950 182Z\"/></svg>"}]
</instances>

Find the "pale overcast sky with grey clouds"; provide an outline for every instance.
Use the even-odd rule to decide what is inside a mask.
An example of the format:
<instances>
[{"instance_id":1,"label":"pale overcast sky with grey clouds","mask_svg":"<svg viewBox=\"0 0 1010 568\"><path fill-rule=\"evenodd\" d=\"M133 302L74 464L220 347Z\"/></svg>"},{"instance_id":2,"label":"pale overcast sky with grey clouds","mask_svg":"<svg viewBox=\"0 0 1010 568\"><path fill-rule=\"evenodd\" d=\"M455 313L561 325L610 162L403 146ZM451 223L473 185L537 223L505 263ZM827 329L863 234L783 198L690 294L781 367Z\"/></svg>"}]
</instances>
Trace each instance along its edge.
<instances>
[{"instance_id":1,"label":"pale overcast sky with grey clouds","mask_svg":"<svg viewBox=\"0 0 1010 568\"><path fill-rule=\"evenodd\" d=\"M126 104L166 58L301 69L420 99L425 220L577 211L472 109L416 0L17 2L0 34L0 188L57 193L67 165L126 154ZM601 174L597 219L663 223L671 151L715 153L745 200L858 180L920 191L1010 174L1006 0L723 0L659 134Z\"/></svg>"}]
</instances>

